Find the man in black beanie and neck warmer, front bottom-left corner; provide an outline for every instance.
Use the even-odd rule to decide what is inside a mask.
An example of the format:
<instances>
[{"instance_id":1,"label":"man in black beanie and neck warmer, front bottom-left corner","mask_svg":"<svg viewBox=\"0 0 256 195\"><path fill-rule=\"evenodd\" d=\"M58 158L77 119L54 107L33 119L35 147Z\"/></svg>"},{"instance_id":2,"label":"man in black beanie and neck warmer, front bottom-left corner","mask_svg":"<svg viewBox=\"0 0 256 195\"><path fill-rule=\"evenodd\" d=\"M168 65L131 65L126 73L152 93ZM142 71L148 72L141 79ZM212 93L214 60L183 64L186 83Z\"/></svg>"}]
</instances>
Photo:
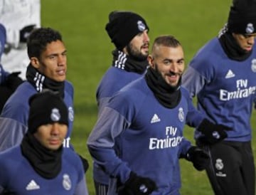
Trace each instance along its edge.
<instances>
[{"instance_id":1,"label":"man in black beanie and neck warmer, front bottom-left corner","mask_svg":"<svg viewBox=\"0 0 256 195\"><path fill-rule=\"evenodd\" d=\"M29 99L28 132L20 145L0 154L0 194L87 195L82 162L63 149L68 108L57 93L36 93Z\"/></svg>"}]
</instances>

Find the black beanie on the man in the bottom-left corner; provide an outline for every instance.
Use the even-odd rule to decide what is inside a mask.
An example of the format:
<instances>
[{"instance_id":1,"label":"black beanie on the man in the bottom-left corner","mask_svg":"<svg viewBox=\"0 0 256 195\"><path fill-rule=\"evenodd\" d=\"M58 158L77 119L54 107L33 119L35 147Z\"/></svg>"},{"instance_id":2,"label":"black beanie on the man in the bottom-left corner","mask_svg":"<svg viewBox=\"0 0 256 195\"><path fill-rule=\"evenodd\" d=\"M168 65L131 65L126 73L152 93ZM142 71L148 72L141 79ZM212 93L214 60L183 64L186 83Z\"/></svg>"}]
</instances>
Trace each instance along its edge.
<instances>
[{"instance_id":1,"label":"black beanie on the man in the bottom-left corner","mask_svg":"<svg viewBox=\"0 0 256 195\"><path fill-rule=\"evenodd\" d=\"M29 98L28 131L36 132L41 125L58 122L68 125L68 108L60 95L51 90L36 93Z\"/></svg>"}]
</instances>

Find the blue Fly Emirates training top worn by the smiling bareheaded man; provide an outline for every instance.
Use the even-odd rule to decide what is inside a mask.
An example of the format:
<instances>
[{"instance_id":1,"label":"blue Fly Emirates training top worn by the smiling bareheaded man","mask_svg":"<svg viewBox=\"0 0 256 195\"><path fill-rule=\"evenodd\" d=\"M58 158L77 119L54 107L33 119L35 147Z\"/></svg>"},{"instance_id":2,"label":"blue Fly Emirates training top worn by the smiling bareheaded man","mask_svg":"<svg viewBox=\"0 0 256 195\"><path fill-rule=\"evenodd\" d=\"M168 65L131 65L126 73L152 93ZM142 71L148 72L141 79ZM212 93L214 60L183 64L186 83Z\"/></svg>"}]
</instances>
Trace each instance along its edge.
<instances>
[{"instance_id":1,"label":"blue Fly Emirates training top worn by the smiling bareheaded man","mask_svg":"<svg viewBox=\"0 0 256 195\"><path fill-rule=\"evenodd\" d=\"M116 194L116 178L124 183L131 171L156 182L154 195L179 194L178 158L191 147L183 128L192 105L184 88L181 94L176 107L166 108L139 78L104 107L87 145L95 162L111 176L108 194Z\"/></svg>"}]
</instances>

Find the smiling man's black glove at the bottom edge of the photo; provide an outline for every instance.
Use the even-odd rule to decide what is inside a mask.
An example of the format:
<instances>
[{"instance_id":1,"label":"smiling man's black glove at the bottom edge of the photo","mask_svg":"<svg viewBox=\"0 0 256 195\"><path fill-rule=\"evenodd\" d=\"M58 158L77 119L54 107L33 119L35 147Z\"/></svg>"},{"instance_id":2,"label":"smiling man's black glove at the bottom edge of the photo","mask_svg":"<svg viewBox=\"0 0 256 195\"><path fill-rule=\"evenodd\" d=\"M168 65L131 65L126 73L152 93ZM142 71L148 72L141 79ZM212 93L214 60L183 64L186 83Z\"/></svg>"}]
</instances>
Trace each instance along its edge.
<instances>
[{"instance_id":1,"label":"smiling man's black glove at the bottom edge of the photo","mask_svg":"<svg viewBox=\"0 0 256 195\"><path fill-rule=\"evenodd\" d=\"M156 183L146 177L131 172L129 179L117 189L118 195L149 195L156 190Z\"/></svg>"}]
</instances>

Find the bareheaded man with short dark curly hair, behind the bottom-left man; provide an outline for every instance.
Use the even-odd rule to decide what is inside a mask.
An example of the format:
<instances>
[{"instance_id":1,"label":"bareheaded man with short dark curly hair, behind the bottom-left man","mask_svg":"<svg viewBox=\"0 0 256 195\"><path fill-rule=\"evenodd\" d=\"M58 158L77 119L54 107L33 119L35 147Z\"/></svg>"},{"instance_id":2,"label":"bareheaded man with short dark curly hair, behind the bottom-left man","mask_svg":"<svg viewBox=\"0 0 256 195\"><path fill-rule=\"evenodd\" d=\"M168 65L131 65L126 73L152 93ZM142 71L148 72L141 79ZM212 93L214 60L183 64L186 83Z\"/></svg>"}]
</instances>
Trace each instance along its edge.
<instances>
[{"instance_id":1,"label":"bareheaded man with short dark curly hair, behind the bottom-left man","mask_svg":"<svg viewBox=\"0 0 256 195\"><path fill-rule=\"evenodd\" d=\"M28 130L28 99L43 89L58 92L68 107L69 125L63 147L70 148L73 85L66 80L67 50L62 36L52 28L37 28L29 36L27 45L31 61L26 71L27 80L9 97L0 115L0 151L21 143ZM87 161L81 159L86 170Z\"/></svg>"}]
</instances>

